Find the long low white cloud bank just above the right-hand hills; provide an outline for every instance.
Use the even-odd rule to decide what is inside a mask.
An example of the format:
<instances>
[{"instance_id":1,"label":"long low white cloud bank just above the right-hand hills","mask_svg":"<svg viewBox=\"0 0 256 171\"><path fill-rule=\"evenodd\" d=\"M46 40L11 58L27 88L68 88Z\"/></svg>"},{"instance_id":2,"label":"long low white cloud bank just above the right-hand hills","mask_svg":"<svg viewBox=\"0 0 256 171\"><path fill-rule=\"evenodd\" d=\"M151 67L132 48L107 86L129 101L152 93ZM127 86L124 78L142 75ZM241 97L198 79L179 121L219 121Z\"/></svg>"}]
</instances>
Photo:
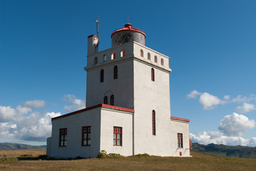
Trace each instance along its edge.
<instances>
[{"instance_id":1,"label":"long low white cloud bank just above the right-hand hills","mask_svg":"<svg viewBox=\"0 0 256 171\"><path fill-rule=\"evenodd\" d=\"M217 131L201 132L197 135L190 133L190 139L192 142L198 142L200 144L208 145L210 143L223 144L223 145L244 145L244 146L256 146L256 138L245 139L242 137L228 137L223 133Z\"/></svg>"}]
</instances>

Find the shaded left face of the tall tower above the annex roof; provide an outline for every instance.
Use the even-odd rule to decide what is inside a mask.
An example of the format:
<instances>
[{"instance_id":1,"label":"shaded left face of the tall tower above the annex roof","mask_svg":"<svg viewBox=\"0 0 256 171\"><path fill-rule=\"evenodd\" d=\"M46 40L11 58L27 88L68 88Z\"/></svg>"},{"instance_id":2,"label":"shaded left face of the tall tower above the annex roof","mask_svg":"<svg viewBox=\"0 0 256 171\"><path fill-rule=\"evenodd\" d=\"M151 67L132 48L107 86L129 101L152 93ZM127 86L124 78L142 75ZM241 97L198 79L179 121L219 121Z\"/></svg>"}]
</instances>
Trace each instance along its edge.
<instances>
[{"instance_id":1,"label":"shaded left face of the tall tower above the annex roof","mask_svg":"<svg viewBox=\"0 0 256 171\"><path fill-rule=\"evenodd\" d=\"M87 71L87 90L86 106L98 105L103 103L105 95L108 96L110 104L110 95L114 95L116 106L123 108L133 108L133 46L132 44L118 46L117 48L101 51L93 56L88 56ZM121 57L121 51L125 49L125 56ZM116 59L111 60L111 53L116 53ZM101 57L106 54L106 62L98 61L93 65L95 56ZM114 66L118 66L118 79L113 79ZM100 82L101 69L104 70L104 81Z\"/></svg>"}]
</instances>

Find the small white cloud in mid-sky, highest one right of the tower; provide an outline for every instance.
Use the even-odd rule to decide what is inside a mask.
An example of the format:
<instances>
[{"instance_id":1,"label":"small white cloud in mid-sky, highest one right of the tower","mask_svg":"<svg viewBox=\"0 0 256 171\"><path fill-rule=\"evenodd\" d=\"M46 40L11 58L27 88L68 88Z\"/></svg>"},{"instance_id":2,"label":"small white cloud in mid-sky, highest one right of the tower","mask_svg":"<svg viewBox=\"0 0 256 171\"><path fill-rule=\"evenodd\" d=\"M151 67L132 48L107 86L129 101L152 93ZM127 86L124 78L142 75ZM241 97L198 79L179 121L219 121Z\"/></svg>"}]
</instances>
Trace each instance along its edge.
<instances>
[{"instance_id":1,"label":"small white cloud in mid-sky, highest one right of the tower","mask_svg":"<svg viewBox=\"0 0 256 171\"><path fill-rule=\"evenodd\" d=\"M216 105L221 103L221 100L217 96L210 95L209 93L203 93L200 95L199 103L203 105L205 110L213 109Z\"/></svg>"}]
</instances>

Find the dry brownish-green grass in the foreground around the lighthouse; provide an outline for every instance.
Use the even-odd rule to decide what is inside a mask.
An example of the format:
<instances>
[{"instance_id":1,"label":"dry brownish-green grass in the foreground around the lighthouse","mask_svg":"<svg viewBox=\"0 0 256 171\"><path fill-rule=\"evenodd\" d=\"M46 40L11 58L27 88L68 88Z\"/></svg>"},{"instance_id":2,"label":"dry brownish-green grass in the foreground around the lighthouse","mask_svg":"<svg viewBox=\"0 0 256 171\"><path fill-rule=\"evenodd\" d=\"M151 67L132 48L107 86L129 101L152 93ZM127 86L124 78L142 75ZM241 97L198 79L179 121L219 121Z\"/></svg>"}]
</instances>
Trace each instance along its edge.
<instances>
[{"instance_id":1,"label":"dry brownish-green grass in the foreground around the lighthouse","mask_svg":"<svg viewBox=\"0 0 256 171\"><path fill-rule=\"evenodd\" d=\"M0 170L256 170L256 159L219 157L191 152L193 157L121 157L81 160L45 160L46 150L0 151L0 156L19 160L0 160ZM41 157L39 157L41 155Z\"/></svg>"}]
</instances>

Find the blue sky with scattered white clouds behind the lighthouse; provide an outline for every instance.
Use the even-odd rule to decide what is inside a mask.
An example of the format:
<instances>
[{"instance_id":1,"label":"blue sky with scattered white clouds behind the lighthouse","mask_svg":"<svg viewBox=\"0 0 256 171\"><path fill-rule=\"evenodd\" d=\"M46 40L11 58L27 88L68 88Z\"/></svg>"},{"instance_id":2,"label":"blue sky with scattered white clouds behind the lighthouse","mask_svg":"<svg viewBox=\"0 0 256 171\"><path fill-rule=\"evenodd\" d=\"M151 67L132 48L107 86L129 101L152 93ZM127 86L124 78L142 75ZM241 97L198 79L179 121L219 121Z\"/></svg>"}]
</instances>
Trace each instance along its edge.
<instances>
[{"instance_id":1,"label":"blue sky with scattered white clouds behind the lighthouse","mask_svg":"<svg viewBox=\"0 0 256 171\"><path fill-rule=\"evenodd\" d=\"M83 108L87 36L129 22L170 57L171 115L193 142L256 146L256 1L0 1L0 142L46 143Z\"/></svg>"}]
</instances>

